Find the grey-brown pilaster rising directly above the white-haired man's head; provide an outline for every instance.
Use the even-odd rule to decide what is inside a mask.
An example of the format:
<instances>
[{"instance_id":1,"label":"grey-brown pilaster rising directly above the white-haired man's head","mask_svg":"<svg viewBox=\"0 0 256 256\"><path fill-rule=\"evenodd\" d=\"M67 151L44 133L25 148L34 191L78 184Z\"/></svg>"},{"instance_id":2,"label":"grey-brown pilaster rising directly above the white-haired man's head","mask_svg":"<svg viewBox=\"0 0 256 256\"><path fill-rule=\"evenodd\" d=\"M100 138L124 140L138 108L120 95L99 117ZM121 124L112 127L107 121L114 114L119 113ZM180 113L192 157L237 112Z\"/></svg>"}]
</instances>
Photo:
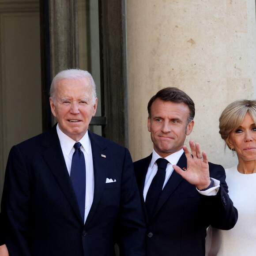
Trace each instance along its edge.
<instances>
[{"instance_id":1,"label":"grey-brown pilaster rising directly above the white-haired man's head","mask_svg":"<svg viewBox=\"0 0 256 256\"><path fill-rule=\"evenodd\" d=\"M77 0L49 0L52 78L61 70L79 68Z\"/></svg>"}]
</instances>

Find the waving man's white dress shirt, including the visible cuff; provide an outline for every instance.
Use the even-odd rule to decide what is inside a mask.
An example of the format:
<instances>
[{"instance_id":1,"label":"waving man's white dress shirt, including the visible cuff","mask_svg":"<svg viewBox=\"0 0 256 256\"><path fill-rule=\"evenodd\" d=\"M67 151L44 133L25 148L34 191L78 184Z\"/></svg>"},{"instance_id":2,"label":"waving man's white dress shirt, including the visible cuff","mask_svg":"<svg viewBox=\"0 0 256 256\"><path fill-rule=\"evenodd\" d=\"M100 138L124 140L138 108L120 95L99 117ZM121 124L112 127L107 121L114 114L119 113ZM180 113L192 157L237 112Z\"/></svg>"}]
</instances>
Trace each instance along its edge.
<instances>
[{"instance_id":1,"label":"waving man's white dress shirt, including the visible cuff","mask_svg":"<svg viewBox=\"0 0 256 256\"><path fill-rule=\"evenodd\" d=\"M167 164L167 167L166 167L166 177L165 177L165 181L164 181L164 184L163 184L163 188L165 187L167 181L169 180L169 177L171 177L171 175L173 173L173 170L174 170L173 166L177 165L177 163L178 163L178 161L181 158L181 155L183 153L184 153L184 150L181 149L180 151L177 151L173 154L169 154L165 158L169 163ZM158 158L161 158L161 156L159 156L153 149L152 159L151 159L150 165L148 166L147 174L146 174L146 178L145 178L145 184L144 184L144 190L143 190L144 201L146 200L147 192L148 192L148 189L151 185L151 182L152 182L155 174L157 173L158 167L157 167L156 160ZM187 167L187 166L184 166L184 167ZM200 191L196 188L197 191L200 194L204 195L204 196L215 196L215 195L217 195L218 189L220 187L220 185L219 185L220 181L218 181L216 179L213 179L213 178L212 178L212 180L214 181L212 188L209 188L205 191Z\"/></svg>"}]
</instances>

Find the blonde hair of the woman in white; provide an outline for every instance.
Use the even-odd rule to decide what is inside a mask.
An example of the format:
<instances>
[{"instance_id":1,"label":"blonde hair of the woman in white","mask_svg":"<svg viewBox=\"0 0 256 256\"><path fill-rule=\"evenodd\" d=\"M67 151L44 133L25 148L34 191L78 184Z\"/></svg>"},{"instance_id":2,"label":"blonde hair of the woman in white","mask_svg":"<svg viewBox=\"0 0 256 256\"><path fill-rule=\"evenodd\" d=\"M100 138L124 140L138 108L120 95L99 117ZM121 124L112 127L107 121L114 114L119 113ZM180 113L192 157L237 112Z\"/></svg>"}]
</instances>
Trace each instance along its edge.
<instances>
[{"instance_id":1,"label":"blonde hair of the woman in white","mask_svg":"<svg viewBox=\"0 0 256 256\"><path fill-rule=\"evenodd\" d=\"M242 124L247 112L256 123L256 100L237 100L223 110L219 118L219 134L228 147L230 132Z\"/></svg>"}]
</instances>

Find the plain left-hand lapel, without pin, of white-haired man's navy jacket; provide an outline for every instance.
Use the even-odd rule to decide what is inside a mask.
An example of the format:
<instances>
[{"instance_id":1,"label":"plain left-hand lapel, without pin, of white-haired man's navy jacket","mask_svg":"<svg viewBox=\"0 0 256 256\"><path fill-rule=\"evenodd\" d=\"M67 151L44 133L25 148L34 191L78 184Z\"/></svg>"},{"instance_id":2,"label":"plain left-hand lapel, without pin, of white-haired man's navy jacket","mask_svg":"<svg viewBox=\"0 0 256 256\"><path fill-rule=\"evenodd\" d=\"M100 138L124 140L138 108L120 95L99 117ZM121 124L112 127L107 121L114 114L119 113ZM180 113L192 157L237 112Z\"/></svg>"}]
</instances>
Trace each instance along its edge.
<instances>
[{"instance_id":1,"label":"plain left-hand lapel, without pin, of white-haired man's navy jacket","mask_svg":"<svg viewBox=\"0 0 256 256\"><path fill-rule=\"evenodd\" d=\"M76 201L75 192L68 175L67 166L64 156L60 147L60 141L56 132L56 125L45 133L45 138L41 144L43 146L42 155L45 162L49 166L50 171L53 173L60 189L64 193L68 202L72 206L75 214L81 222L83 222L78 203Z\"/></svg>"}]
</instances>

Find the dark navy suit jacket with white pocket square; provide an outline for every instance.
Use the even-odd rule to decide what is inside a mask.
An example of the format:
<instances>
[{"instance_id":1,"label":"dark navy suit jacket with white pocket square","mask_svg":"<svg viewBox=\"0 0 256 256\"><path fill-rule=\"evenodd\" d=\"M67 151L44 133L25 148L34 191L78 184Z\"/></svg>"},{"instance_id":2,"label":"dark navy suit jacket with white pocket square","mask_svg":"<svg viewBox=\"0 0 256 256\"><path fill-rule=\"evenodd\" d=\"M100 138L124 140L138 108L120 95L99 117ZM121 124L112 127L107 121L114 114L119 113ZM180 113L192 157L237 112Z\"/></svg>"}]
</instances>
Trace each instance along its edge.
<instances>
[{"instance_id":1,"label":"dark navy suit jacket with white pocket square","mask_svg":"<svg viewBox=\"0 0 256 256\"><path fill-rule=\"evenodd\" d=\"M113 256L116 241L120 255L144 256L145 222L131 156L108 139L89 137L94 199L85 224L56 126L12 147L2 199L11 256Z\"/></svg>"}]
</instances>

